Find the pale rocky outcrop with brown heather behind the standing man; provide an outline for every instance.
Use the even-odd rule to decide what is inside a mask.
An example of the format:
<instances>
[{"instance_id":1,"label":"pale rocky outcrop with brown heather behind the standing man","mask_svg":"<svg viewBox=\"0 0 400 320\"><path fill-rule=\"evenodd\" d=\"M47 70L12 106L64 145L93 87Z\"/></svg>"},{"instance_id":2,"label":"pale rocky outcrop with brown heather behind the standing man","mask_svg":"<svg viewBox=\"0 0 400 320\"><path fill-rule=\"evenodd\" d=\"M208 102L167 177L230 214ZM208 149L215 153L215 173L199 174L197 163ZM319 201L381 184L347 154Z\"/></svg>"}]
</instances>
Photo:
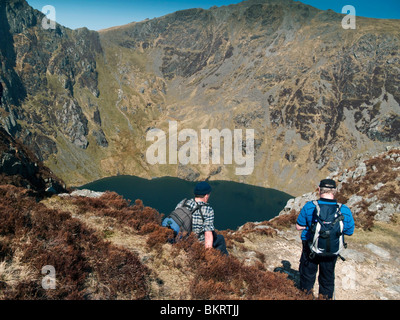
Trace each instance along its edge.
<instances>
[{"instance_id":1,"label":"pale rocky outcrop with brown heather behind the standing man","mask_svg":"<svg viewBox=\"0 0 400 320\"><path fill-rule=\"evenodd\" d=\"M385 152L358 157L357 166L328 176L338 183L338 201L360 218L360 227L371 228L373 221L389 223L400 213L400 149L387 147ZM317 192L290 199L279 215L298 214L306 202L316 199Z\"/></svg>"}]
</instances>

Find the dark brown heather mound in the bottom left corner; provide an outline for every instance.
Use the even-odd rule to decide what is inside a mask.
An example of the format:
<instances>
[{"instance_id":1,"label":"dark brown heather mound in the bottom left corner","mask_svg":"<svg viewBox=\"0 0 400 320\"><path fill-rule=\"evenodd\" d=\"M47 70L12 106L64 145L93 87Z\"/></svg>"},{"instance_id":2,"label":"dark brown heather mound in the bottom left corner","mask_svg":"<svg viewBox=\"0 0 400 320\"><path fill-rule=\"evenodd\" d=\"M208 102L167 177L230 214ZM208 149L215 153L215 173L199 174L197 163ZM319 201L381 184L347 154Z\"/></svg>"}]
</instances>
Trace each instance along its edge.
<instances>
[{"instance_id":1,"label":"dark brown heather mound in the bottom left corner","mask_svg":"<svg viewBox=\"0 0 400 320\"><path fill-rule=\"evenodd\" d=\"M0 198L0 263L8 270L0 273L0 298L147 297L149 270L136 254L99 238L69 212L36 203L23 189L0 186ZM56 290L41 286L45 265L55 267Z\"/></svg>"}]
</instances>

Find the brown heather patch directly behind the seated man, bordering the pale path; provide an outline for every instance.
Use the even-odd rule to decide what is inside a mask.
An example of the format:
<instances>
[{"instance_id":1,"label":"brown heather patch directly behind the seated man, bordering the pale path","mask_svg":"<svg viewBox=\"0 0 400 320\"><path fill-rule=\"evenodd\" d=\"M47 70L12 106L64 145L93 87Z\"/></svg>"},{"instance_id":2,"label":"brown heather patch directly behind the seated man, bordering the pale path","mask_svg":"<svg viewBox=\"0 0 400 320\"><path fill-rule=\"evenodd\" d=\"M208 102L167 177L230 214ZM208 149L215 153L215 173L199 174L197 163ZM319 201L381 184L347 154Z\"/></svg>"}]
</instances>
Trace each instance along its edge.
<instances>
[{"instance_id":1,"label":"brown heather patch directly behind the seated man, bordering the pale path","mask_svg":"<svg viewBox=\"0 0 400 320\"><path fill-rule=\"evenodd\" d=\"M175 249L188 255L187 265L194 274L189 286L191 299L307 299L286 275L246 266L232 255L206 250L192 236L176 244Z\"/></svg>"}]
</instances>

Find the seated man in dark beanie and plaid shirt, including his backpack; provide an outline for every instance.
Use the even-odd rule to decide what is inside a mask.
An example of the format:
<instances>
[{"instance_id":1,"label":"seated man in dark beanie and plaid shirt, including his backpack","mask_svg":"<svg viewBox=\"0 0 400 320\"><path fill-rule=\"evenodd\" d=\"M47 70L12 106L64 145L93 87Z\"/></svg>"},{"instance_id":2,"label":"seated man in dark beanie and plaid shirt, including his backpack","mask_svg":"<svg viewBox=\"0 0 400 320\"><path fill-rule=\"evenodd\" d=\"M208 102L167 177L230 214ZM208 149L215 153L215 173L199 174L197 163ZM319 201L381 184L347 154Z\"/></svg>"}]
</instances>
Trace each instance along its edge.
<instances>
[{"instance_id":1,"label":"seated man in dark beanie and plaid shirt, including his backpack","mask_svg":"<svg viewBox=\"0 0 400 320\"><path fill-rule=\"evenodd\" d=\"M163 226L171 227L176 233L193 232L206 248L215 248L228 255L225 238L214 228L214 210L208 203L211 186L199 182L194 188L194 198L184 199L163 221Z\"/></svg>"}]
</instances>

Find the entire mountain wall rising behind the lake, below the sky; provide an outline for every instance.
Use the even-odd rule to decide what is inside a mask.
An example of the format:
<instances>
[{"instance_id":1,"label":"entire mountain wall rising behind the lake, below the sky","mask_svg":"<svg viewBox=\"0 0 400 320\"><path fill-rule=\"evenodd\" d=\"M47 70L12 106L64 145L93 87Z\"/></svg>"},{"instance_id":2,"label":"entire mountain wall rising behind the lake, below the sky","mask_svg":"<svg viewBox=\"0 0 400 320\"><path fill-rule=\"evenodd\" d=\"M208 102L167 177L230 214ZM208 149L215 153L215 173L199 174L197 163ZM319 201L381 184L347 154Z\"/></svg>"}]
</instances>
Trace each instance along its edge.
<instances>
[{"instance_id":1,"label":"entire mountain wall rising behind the lake, below the sky","mask_svg":"<svg viewBox=\"0 0 400 320\"><path fill-rule=\"evenodd\" d=\"M44 30L25 1L0 8L3 125L69 183L211 177L297 195L399 142L398 21L358 17L344 30L332 11L251 0L96 33ZM254 129L253 174L150 166L146 132L168 120L198 132Z\"/></svg>"}]
</instances>

